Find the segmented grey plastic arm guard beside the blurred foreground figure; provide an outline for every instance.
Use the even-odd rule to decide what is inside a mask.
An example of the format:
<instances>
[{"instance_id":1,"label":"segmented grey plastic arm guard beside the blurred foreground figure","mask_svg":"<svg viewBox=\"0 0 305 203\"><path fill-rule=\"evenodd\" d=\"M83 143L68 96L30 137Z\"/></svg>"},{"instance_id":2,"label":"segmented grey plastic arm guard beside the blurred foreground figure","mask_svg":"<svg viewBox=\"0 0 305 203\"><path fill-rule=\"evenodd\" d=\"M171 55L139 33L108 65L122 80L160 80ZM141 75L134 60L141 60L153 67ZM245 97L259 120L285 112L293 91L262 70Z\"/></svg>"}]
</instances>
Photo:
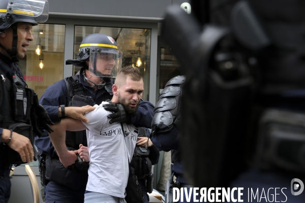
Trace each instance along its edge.
<instances>
[{"instance_id":1,"label":"segmented grey plastic arm guard beside the blurred foreground figure","mask_svg":"<svg viewBox=\"0 0 305 203\"><path fill-rule=\"evenodd\" d=\"M169 80L159 95L151 122L153 134L169 131L178 122L180 97L185 76L176 76Z\"/></svg>"}]
</instances>

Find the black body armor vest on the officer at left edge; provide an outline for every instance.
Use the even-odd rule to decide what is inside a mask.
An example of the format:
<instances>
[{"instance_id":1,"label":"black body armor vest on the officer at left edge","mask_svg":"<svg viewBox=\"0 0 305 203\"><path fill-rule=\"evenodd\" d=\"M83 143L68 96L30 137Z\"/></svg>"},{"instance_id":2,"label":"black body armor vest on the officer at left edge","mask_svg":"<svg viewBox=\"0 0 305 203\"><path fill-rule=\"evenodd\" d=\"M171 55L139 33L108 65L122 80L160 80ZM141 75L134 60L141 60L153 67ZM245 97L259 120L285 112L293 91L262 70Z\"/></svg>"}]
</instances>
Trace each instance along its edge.
<instances>
[{"instance_id":1,"label":"black body armor vest on the officer at left edge","mask_svg":"<svg viewBox=\"0 0 305 203\"><path fill-rule=\"evenodd\" d=\"M12 129L14 132L27 137L32 145L34 152L34 133L32 130L31 107L34 91L26 88L22 79L13 75L11 81L3 72L0 71L1 82L1 108L0 108L0 127ZM9 146L0 144L0 160L3 163L22 164L19 154Z\"/></svg>"}]
</instances>

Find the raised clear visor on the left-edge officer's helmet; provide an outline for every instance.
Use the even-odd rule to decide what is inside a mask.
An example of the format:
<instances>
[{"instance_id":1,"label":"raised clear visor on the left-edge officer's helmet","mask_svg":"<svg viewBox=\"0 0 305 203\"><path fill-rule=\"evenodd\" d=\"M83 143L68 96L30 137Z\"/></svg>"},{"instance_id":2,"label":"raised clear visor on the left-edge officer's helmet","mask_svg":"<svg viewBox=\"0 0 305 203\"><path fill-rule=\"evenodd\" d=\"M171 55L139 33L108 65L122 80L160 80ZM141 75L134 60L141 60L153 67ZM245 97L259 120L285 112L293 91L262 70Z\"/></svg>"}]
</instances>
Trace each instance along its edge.
<instances>
[{"instance_id":1,"label":"raised clear visor on the left-edge officer's helmet","mask_svg":"<svg viewBox=\"0 0 305 203\"><path fill-rule=\"evenodd\" d=\"M7 12L33 16L36 22L42 23L49 17L49 2L48 0L13 0L9 1Z\"/></svg>"}]
</instances>

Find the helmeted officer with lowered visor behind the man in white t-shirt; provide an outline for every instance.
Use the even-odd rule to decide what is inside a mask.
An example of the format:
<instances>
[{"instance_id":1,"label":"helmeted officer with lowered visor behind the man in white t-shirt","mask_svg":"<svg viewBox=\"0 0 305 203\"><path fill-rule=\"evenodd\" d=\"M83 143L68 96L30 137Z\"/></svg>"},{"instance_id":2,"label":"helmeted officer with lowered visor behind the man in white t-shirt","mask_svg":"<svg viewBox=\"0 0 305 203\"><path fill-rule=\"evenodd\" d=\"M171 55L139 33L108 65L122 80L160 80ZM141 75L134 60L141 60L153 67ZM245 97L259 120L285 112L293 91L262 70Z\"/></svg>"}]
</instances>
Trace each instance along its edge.
<instances>
[{"instance_id":1,"label":"helmeted officer with lowered visor behind the man in white t-shirt","mask_svg":"<svg viewBox=\"0 0 305 203\"><path fill-rule=\"evenodd\" d=\"M75 117L74 106L100 105L102 101L112 98L112 85L116 73L121 68L122 52L110 36L94 33L86 36L80 45L77 59L67 60L66 64L80 66L78 75L60 80L49 86L42 97L43 105L53 122L60 121L65 116ZM69 90L68 90L69 89ZM108 109L107 109L108 108ZM111 121L120 121L137 126L150 127L153 119L154 105L141 100L135 114L129 114L119 104L109 104L105 107L114 112L109 115ZM80 118L79 118L80 119ZM88 161L86 148L86 132L76 132L71 136L67 132L66 145L70 150L78 150L81 146L80 158ZM46 156L46 202L83 202L87 182L88 164L77 159L76 163L65 168L54 152L54 148L45 133L45 137L36 140L39 151ZM78 165L86 166L78 167ZM57 174L66 173L66 178L60 179Z\"/></svg>"}]
</instances>

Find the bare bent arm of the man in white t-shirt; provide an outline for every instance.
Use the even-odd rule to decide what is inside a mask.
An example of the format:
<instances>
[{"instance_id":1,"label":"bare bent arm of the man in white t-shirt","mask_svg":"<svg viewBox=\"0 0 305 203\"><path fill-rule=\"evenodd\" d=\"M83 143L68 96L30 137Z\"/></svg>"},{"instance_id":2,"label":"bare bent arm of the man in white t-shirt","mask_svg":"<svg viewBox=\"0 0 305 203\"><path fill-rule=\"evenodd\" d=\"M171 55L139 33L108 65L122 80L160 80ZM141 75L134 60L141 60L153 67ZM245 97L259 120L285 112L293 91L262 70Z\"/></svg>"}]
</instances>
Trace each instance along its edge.
<instances>
[{"instance_id":1,"label":"bare bent arm of the man in white t-shirt","mask_svg":"<svg viewBox=\"0 0 305 203\"><path fill-rule=\"evenodd\" d=\"M86 129L86 126L80 121L72 118L64 118L62 121L51 126L54 132L49 133L51 142L58 154L60 162L65 167L73 164L76 160L76 152L68 151L66 147L66 130L79 131ZM74 160L74 161L73 161Z\"/></svg>"}]
</instances>

